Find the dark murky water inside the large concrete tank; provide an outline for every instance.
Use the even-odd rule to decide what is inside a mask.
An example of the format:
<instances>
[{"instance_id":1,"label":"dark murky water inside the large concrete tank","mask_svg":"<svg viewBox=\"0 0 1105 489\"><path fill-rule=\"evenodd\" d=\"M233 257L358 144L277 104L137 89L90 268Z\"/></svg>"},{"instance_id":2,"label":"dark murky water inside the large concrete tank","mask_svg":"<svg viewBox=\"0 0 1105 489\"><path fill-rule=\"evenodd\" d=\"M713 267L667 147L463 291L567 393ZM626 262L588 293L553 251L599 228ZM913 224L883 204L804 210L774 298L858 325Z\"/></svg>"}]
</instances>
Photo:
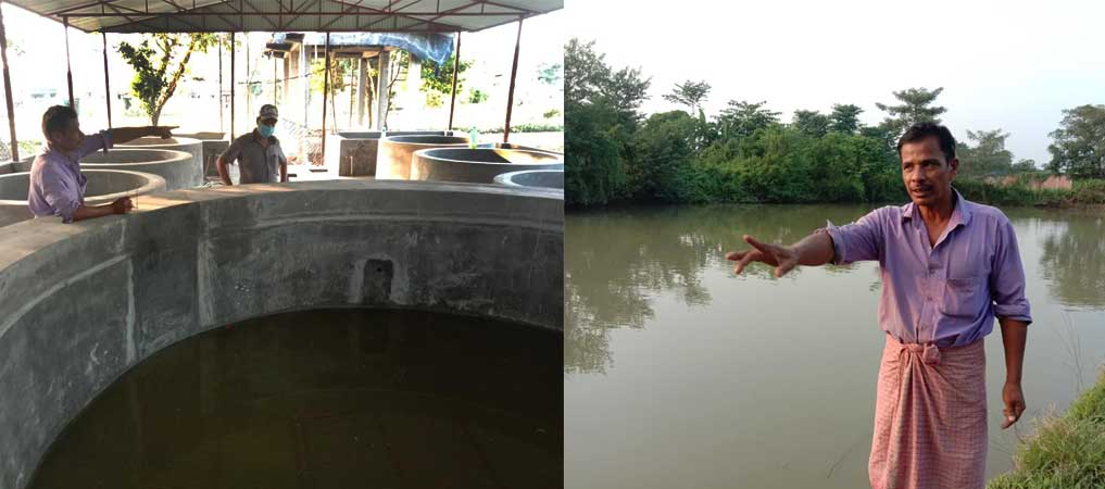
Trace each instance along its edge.
<instances>
[{"instance_id":1,"label":"dark murky water inside the large concrete tank","mask_svg":"<svg viewBox=\"0 0 1105 489\"><path fill-rule=\"evenodd\" d=\"M30 487L561 487L561 340L378 310L220 327L124 374Z\"/></svg>"}]
</instances>

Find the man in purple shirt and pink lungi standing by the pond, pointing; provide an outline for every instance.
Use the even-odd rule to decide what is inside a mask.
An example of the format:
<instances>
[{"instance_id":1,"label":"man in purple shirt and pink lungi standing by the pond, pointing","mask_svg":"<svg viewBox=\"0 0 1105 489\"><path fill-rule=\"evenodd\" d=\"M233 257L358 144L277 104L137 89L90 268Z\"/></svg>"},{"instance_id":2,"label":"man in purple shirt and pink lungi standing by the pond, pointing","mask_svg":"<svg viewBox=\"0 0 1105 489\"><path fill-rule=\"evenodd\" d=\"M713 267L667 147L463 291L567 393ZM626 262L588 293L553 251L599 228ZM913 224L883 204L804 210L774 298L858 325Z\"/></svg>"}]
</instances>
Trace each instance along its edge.
<instances>
[{"instance_id":1,"label":"man in purple shirt and pink lungi standing by the pond, pointing","mask_svg":"<svg viewBox=\"0 0 1105 489\"><path fill-rule=\"evenodd\" d=\"M736 273L759 261L797 266L878 260L878 325L886 333L869 472L883 488L982 488L987 427L982 339L1001 324L1008 428L1024 412L1028 324L1017 236L1000 210L951 187L959 168L947 127L920 123L897 144L912 202L819 229L786 247L745 236Z\"/></svg>"}]
</instances>

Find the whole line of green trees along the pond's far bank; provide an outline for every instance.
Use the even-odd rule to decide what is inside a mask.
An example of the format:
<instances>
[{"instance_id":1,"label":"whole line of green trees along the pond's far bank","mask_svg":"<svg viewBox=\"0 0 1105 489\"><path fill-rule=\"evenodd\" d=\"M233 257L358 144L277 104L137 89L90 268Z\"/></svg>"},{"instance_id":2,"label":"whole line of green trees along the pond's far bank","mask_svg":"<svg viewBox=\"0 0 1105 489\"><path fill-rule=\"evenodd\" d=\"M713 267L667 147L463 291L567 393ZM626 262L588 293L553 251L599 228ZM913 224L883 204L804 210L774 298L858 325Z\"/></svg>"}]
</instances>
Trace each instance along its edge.
<instances>
[{"instance_id":1,"label":"whole line of green trees along the pond's far bank","mask_svg":"<svg viewBox=\"0 0 1105 489\"><path fill-rule=\"evenodd\" d=\"M708 122L701 110L697 117L671 111L642 118L639 107L649 83L638 71L613 70L593 43L578 40L566 46L565 66L565 196L572 207L612 201L902 202L908 196L894 143L904 124L938 122L945 112L934 106L940 89L911 89L894 93L903 105L881 105L893 118L875 126L863 125L863 111L851 104L833 105L828 115L796 111L789 124L781 124L766 102L747 101L730 101ZM680 89L690 83L677 85L671 97L685 95ZM673 102L694 107L695 100ZM1067 111L1053 136L1053 153L1083 158L1076 164L1061 159L1061 168L1078 175L1099 170L1105 106ZM1074 190L1064 194L971 178L1036 173L1030 159L1013 164L1008 137L1001 129L968 132L958 147L962 174L956 180L967 198L997 205L1105 202L1103 180L1075 181ZM1090 185L1095 181L1099 185Z\"/></svg>"}]
</instances>

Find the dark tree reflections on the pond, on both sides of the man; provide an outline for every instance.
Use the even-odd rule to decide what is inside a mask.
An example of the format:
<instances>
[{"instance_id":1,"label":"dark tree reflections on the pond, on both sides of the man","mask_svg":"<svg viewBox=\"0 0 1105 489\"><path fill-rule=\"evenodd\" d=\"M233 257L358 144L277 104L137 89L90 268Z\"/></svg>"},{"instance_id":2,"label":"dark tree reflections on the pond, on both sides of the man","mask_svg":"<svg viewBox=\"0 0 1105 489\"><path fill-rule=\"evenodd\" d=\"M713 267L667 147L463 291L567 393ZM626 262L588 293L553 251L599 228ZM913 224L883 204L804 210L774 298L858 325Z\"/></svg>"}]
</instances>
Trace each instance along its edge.
<instances>
[{"instance_id":1,"label":"dark tree reflections on the pond, on both sides of the man","mask_svg":"<svg viewBox=\"0 0 1105 489\"><path fill-rule=\"evenodd\" d=\"M714 300L706 269L728 268L726 251L745 249L741 233L790 243L810 231L851 222L865 206L642 207L569 214L565 226L565 371L604 372L613 362L609 330L641 329L653 319L652 298L672 294L690 308ZM1078 211L1007 209L1019 229L1022 254L1040 241L1040 277L1064 305L1105 304L1105 219ZM1025 257L1025 260L1028 257ZM854 267L825 267L830 274ZM798 269L783 280L796 280ZM754 264L748 279L771 279ZM1033 277L1029 277L1033 280ZM873 275L870 291L880 287ZM715 291L716 293L716 291Z\"/></svg>"}]
</instances>

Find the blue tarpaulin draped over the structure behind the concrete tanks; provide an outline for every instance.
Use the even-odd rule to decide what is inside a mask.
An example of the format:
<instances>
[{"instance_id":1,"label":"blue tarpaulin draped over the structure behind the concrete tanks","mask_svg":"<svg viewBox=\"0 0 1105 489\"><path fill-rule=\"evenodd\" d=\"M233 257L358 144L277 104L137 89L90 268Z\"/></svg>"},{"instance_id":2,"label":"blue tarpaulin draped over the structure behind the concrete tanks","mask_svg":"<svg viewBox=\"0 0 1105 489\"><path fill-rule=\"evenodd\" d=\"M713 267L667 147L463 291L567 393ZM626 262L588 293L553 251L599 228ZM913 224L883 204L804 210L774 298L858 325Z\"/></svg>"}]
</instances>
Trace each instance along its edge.
<instances>
[{"instance_id":1,"label":"blue tarpaulin draped over the structure behind the concrete tanks","mask_svg":"<svg viewBox=\"0 0 1105 489\"><path fill-rule=\"evenodd\" d=\"M283 43L287 33L273 34L273 42ZM304 45L325 45L326 34L305 33ZM419 60L431 60L442 65L453 54L453 34L415 34L406 32L335 32L330 34L330 48L388 46L399 48Z\"/></svg>"}]
</instances>

